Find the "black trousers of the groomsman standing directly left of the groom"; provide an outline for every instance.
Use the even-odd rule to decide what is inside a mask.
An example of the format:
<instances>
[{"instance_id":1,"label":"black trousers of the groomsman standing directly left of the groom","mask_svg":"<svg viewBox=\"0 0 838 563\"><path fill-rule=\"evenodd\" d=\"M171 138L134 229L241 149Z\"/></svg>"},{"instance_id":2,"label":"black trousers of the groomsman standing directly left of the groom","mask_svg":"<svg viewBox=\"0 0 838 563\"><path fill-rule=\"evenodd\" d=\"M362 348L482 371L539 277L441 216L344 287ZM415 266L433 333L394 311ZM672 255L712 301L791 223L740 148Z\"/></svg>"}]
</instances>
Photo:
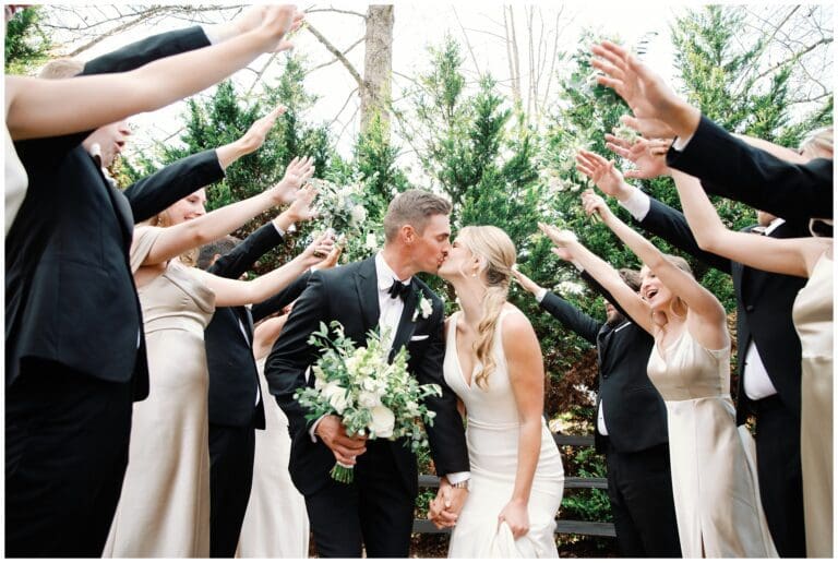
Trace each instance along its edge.
<instances>
[{"instance_id":1,"label":"black trousers of the groomsman standing directly left of the groom","mask_svg":"<svg viewBox=\"0 0 838 563\"><path fill-rule=\"evenodd\" d=\"M253 486L255 428L210 424L210 556L232 558Z\"/></svg>"}]
</instances>

